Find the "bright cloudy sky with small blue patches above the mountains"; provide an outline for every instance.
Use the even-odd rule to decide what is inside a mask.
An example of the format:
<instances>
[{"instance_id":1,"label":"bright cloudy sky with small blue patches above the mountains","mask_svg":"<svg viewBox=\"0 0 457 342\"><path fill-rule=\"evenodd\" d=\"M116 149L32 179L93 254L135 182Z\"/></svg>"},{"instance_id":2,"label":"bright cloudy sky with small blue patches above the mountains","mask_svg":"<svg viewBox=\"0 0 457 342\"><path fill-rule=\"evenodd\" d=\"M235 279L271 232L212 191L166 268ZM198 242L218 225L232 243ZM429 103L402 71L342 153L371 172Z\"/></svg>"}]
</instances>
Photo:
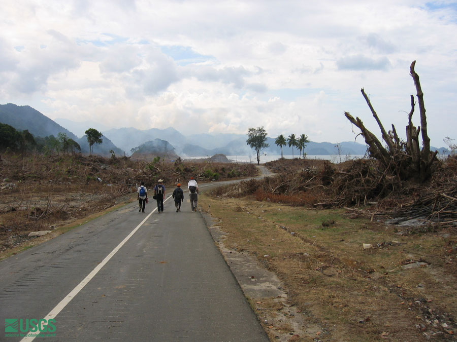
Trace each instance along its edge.
<instances>
[{"instance_id":1,"label":"bright cloudy sky with small blue patches above the mountains","mask_svg":"<svg viewBox=\"0 0 457 342\"><path fill-rule=\"evenodd\" d=\"M0 32L0 104L53 120L353 141L345 111L380 136L364 88L406 138L416 60L432 145L457 139L455 2L4 0Z\"/></svg>"}]
</instances>

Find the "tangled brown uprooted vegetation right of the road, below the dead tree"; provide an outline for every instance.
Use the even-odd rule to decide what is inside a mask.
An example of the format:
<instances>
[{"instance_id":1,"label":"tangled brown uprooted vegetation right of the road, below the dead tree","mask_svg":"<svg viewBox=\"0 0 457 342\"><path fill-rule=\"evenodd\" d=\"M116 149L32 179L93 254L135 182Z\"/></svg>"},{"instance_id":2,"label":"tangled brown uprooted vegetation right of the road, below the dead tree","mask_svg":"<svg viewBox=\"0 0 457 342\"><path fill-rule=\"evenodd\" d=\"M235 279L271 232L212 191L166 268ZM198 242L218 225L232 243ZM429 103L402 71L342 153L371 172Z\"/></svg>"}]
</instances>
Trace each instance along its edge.
<instances>
[{"instance_id":1,"label":"tangled brown uprooted vegetation right of the road, below the dead tree","mask_svg":"<svg viewBox=\"0 0 457 342\"><path fill-rule=\"evenodd\" d=\"M266 164L275 177L215 189L219 197L252 196L257 201L309 208L355 207L354 212L422 218L434 224L457 222L457 159L435 164L425 183L402 180L375 159L341 164L317 160L278 160Z\"/></svg>"}]
</instances>

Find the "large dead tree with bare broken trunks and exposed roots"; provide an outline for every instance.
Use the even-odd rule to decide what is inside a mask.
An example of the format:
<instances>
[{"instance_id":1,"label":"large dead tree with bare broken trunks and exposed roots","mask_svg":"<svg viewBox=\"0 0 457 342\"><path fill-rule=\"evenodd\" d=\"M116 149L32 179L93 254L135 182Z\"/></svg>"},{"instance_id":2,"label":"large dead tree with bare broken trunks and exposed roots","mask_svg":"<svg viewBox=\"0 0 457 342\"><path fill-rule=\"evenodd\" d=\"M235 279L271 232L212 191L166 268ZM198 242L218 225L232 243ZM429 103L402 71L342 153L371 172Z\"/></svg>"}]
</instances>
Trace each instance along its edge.
<instances>
[{"instance_id":1,"label":"large dead tree with bare broken trunks and exposed roots","mask_svg":"<svg viewBox=\"0 0 457 342\"><path fill-rule=\"evenodd\" d=\"M438 151L434 153L430 151L430 138L427 135L426 109L423 103L423 92L419 83L419 75L414 71L415 63L416 61L411 63L410 72L417 92L420 126L416 128L412 124L415 102L414 96L411 95L411 111L408 114L408 126L406 126L406 142L398 137L394 125L392 125L391 131L386 132L363 88L361 89L362 95L381 130L382 140L384 140L386 146L384 147L381 141L364 126L362 120L359 118L354 119L347 111L344 115L353 125L360 128L361 134L369 146L368 151L370 156L378 160L385 170L394 172L401 180L412 178L423 182L432 173L431 167L433 162L437 160L436 155ZM420 149L419 144L420 133L422 134L422 149Z\"/></svg>"}]
</instances>

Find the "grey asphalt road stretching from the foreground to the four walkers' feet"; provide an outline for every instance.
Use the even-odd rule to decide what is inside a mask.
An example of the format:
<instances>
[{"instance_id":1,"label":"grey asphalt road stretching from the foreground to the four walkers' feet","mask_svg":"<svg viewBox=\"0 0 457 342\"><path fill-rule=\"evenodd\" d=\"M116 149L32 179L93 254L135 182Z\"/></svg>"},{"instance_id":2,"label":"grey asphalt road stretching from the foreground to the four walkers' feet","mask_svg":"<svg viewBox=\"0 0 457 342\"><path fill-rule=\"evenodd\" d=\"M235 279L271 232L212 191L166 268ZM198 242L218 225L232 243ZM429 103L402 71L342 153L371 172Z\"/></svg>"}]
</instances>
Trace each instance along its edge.
<instances>
[{"instance_id":1,"label":"grey asphalt road stretching from the foreground to the four walkers' feet","mask_svg":"<svg viewBox=\"0 0 457 342\"><path fill-rule=\"evenodd\" d=\"M1 261L0 319L19 326L0 340L32 340L11 335L46 319L45 341L268 341L203 217L187 193L177 213L170 190L161 214L128 204Z\"/></svg>"}]
</instances>

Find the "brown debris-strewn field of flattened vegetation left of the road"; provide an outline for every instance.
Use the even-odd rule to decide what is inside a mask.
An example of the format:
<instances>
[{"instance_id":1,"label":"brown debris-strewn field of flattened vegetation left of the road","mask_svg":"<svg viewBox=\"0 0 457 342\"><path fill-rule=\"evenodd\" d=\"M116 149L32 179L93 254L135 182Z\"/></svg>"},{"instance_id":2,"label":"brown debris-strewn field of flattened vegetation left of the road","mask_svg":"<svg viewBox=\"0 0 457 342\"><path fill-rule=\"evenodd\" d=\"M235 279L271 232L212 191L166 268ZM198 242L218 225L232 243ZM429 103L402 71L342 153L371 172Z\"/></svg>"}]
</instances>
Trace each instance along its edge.
<instances>
[{"instance_id":1,"label":"brown debris-strewn field of flattened vegetation left of the road","mask_svg":"<svg viewBox=\"0 0 457 342\"><path fill-rule=\"evenodd\" d=\"M249 164L151 162L81 155L4 154L0 158L0 252L29 240L31 232L54 230L76 219L136 199L141 181L167 187L256 175Z\"/></svg>"}]
</instances>

